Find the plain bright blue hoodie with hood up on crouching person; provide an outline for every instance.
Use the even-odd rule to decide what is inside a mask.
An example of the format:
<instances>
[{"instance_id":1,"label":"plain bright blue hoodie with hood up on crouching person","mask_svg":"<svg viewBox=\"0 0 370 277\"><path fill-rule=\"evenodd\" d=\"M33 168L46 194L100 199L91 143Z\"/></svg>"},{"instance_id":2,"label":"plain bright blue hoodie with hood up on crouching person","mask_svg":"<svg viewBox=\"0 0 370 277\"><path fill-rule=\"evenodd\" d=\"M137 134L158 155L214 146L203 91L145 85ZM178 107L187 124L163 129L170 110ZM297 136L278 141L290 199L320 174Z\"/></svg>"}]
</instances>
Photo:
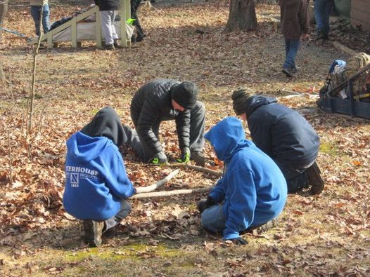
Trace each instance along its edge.
<instances>
[{"instance_id":1,"label":"plain bright blue hoodie with hood up on crouching person","mask_svg":"<svg viewBox=\"0 0 370 277\"><path fill-rule=\"evenodd\" d=\"M209 195L216 203L224 201L224 239L277 217L286 203L286 180L269 156L245 140L241 121L227 117L205 139L227 168Z\"/></svg>"}]
</instances>

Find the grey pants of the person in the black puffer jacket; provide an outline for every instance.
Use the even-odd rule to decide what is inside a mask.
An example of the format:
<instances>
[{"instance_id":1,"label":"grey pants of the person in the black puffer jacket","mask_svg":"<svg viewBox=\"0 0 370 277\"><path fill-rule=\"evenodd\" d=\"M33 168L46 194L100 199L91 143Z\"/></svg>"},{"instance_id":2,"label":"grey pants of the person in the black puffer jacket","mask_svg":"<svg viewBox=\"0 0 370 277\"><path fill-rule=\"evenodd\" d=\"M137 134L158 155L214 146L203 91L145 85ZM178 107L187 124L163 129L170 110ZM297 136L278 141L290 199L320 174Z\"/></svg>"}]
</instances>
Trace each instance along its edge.
<instances>
[{"instance_id":1,"label":"grey pants of the person in the black puffer jacket","mask_svg":"<svg viewBox=\"0 0 370 277\"><path fill-rule=\"evenodd\" d=\"M137 129L137 124L139 116L132 116L132 121L134 121L135 128ZM170 119L169 119L170 120ZM164 119L158 119L153 126L151 126L155 137L159 141L159 127L160 123ZM190 110L190 151L203 151L204 147L204 128L205 128L205 106L203 102L197 101L196 105ZM143 151L143 161L150 161L151 158L157 152L152 147L141 142L141 147Z\"/></svg>"}]
</instances>

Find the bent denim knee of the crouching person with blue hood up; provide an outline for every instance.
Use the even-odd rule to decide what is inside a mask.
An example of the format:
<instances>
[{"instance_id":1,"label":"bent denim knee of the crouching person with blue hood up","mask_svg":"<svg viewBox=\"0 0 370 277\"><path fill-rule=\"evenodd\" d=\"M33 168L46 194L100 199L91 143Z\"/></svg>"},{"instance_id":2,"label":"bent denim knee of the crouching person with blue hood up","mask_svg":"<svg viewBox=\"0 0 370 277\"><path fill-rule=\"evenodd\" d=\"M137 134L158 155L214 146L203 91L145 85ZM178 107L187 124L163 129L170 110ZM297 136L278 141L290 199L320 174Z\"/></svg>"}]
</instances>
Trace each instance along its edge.
<instances>
[{"instance_id":1,"label":"bent denim knee of the crouching person with blue hood up","mask_svg":"<svg viewBox=\"0 0 370 277\"><path fill-rule=\"evenodd\" d=\"M226 217L223 205L213 205L205 209L201 215L201 225L204 229L213 233L222 233L225 229Z\"/></svg>"}]
</instances>

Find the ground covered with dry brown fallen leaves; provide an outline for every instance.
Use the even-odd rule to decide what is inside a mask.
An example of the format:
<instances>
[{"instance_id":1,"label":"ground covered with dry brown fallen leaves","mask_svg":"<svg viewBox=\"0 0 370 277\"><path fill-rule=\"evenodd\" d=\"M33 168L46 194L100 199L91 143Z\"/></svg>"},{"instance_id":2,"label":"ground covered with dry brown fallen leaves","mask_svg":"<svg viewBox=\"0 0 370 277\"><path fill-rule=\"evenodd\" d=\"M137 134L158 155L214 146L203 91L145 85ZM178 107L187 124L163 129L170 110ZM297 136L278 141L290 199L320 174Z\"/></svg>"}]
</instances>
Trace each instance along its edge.
<instances>
[{"instance_id":1,"label":"ground covered with dry brown fallen leaves","mask_svg":"<svg viewBox=\"0 0 370 277\"><path fill-rule=\"evenodd\" d=\"M51 7L51 21L84 8ZM279 9L257 6L257 32L224 34L228 11L226 1L143 8L140 18L148 36L132 48L110 52L86 42L79 49L60 43L58 48L40 50L33 128L27 137L33 47L13 34L3 34L0 62L7 80L0 93L0 272L370 274L369 121L324 114L315 103L328 65L347 55L330 42L305 42L297 60L302 69L288 81L281 74L283 39L272 28ZM5 27L32 36L27 7L11 7ZM278 97L297 109L321 138L323 193L289 196L279 224L264 234L244 235L249 244L243 247L222 243L220 237L200 229L196 201L201 194L131 201L132 213L118 235L106 238L98 250L86 248L80 222L63 210L65 141L106 105L132 125L132 95L154 78L196 82L207 108L207 130L233 115L230 96L239 86ZM179 154L174 130L173 122L160 128L162 145L172 158ZM245 130L248 136L247 126ZM130 149L122 149L122 154L136 187L157 182L174 170L138 163ZM215 158L208 144L205 154ZM222 171L222 164L208 168ZM181 168L160 190L210 187L216 181L215 176Z\"/></svg>"}]
</instances>

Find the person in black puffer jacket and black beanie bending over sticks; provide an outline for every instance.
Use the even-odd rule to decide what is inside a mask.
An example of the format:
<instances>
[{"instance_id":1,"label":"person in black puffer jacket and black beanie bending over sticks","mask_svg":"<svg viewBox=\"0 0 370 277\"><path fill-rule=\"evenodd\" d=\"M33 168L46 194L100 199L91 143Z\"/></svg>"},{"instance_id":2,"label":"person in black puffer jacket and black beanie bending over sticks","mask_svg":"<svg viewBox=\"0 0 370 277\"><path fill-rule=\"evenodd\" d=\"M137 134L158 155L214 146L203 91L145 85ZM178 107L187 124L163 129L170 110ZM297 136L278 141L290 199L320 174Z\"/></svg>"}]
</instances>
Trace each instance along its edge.
<instances>
[{"instance_id":1,"label":"person in black puffer jacket and black beanie bending over sticks","mask_svg":"<svg viewBox=\"0 0 370 277\"><path fill-rule=\"evenodd\" d=\"M167 163L158 132L162 121L176 122L181 158L204 165L205 106L198 100L198 88L189 81L156 79L136 91L131 102L131 118L140 137L144 161Z\"/></svg>"}]
</instances>

